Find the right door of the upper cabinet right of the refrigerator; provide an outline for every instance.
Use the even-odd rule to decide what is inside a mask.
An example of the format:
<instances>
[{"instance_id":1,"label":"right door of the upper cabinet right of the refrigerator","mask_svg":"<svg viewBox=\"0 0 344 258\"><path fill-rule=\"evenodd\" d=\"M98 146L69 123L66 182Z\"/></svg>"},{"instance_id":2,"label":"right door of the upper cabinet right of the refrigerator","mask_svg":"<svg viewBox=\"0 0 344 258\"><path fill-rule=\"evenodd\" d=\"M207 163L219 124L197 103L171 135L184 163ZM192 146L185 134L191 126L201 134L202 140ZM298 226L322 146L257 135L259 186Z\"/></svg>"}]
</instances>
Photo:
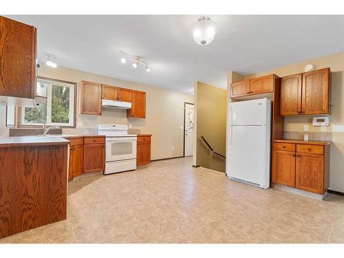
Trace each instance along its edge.
<instances>
[{"instance_id":1,"label":"right door of the upper cabinet right of the refrigerator","mask_svg":"<svg viewBox=\"0 0 344 258\"><path fill-rule=\"evenodd\" d=\"M302 114L329 114L330 68L302 74Z\"/></svg>"}]
</instances>

